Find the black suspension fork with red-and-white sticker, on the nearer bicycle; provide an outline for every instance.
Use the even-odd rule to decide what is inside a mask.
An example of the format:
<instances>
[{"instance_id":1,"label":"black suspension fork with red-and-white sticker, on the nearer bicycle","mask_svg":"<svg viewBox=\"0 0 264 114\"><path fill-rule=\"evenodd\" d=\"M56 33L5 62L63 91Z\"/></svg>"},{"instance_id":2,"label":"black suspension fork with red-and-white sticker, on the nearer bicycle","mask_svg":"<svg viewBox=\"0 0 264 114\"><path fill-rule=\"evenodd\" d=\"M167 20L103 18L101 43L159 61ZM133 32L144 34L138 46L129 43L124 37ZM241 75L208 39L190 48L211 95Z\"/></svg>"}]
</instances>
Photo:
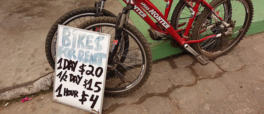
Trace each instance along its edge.
<instances>
[{"instance_id":1,"label":"black suspension fork with red-and-white sticker, on the nearer bicycle","mask_svg":"<svg viewBox=\"0 0 264 114\"><path fill-rule=\"evenodd\" d=\"M114 59L114 56L117 52L119 44L123 42L123 37L124 37L123 24L125 22L125 19L128 17L129 10L133 10L133 9L134 9L134 5L128 4L127 7L123 8L122 13L119 13L116 18L116 33L113 40L111 51L109 53L108 64L116 64L118 62L118 60Z\"/></svg>"}]
</instances>

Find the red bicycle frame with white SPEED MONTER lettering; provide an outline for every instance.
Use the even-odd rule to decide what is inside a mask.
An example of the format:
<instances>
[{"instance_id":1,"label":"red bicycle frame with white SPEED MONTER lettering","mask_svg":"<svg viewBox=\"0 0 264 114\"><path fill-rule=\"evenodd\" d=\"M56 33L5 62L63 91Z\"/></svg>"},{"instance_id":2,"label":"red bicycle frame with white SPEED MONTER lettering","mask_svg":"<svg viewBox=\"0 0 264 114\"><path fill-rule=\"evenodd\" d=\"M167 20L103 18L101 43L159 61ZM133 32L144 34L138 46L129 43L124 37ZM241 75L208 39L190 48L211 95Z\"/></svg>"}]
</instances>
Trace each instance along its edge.
<instances>
[{"instance_id":1,"label":"red bicycle frame with white SPEED MONTER lettering","mask_svg":"<svg viewBox=\"0 0 264 114\"><path fill-rule=\"evenodd\" d=\"M126 4L129 3L130 0L123 0ZM180 30L174 30L174 28L170 25L170 23L168 22L167 18L170 12L170 8L172 5L173 0L165 0L167 1L167 5L165 8L165 13L164 15L160 12L160 10L158 10L158 8L152 4L152 2L150 2L149 0L136 0L136 5L134 7L134 11L143 19L145 20L145 22L147 22L150 27L152 27L155 31L159 31L161 33L165 33L165 34L170 34L177 42L179 42L180 45L184 45L184 44L190 44L190 43L199 43L204 41L205 39L210 39L210 38L214 38L214 37L218 37L217 35L212 35L212 36L208 36L199 40L190 40L187 41L188 38L187 37L181 37L177 32L181 31ZM223 19L217 14L217 12L215 12L215 10L205 1L205 0L183 0L189 7L191 7L193 9L192 14L190 15L190 19L188 21L187 27L184 31L184 36L187 36L190 28L192 27L192 23L193 20L195 19L196 13L198 12L198 8L200 6L200 4L202 4L204 7L207 7L211 10L211 12L221 21L223 21ZM193 6L193 4L191 4L190 2L195 2L195 5ZM150 17L146 14L146 12L148 12L157 22L159 22L160 25L163 26L163 28L165 29L165 31L161 30L160 28L158 28L158 26L155 24L155 22L152 21L152 19L150 19Z\"/></svg>"}]
</instances>

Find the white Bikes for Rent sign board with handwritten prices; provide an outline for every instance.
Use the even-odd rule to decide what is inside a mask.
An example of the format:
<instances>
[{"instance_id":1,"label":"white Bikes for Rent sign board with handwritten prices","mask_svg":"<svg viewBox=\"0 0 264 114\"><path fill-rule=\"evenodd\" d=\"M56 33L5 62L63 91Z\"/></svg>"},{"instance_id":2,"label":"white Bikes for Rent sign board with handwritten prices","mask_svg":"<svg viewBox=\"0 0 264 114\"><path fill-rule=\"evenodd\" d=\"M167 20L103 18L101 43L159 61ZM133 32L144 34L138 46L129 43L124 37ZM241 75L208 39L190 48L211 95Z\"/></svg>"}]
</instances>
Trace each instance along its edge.
<instances>
[{"instance_id":1,"label":"white Bikes for Rent sign board with handwritten prices","mask_svg":"<svg viewBox=\"0 0 264 114\"><path fill-rule=\"evenodd\" d=\"M54 101L101 114L110 37L58 25Z\"/></svg>"}]
</instances>

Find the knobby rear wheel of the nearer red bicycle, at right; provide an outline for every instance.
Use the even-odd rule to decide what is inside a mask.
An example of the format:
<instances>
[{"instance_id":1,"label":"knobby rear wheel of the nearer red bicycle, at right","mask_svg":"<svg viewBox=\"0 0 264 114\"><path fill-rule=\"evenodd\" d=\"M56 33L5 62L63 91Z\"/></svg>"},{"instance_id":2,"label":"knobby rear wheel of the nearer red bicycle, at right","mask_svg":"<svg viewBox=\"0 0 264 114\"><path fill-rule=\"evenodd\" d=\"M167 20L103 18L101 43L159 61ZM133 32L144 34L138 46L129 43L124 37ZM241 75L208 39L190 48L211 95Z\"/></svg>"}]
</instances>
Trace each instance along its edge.
<instances>
[{"instance_id":1,"label":"knobby rear wheel of the nearer red bicycle, at right","mask_svg":"<svg viewBox=\"0 0 264 114\"><path fill-rule=\"evenodd\" d=\"M231 26L226 27L222 22L214 21L208 24L207 19L211 11L205 9L200 14L194 24L193 39L202 39L204 37L228 32L226 36L206 39L203 42L193 44L194 50L207 58L212 59L219 57L230 51L247 33L253 17L253 5L250 0L214 0L210 5L221 14L223 4L231 4L232 10L227 15L221 16ZM208 29L207 27L212 27ZM240 32L237 32L240 30ZM235 33L237 32L237 33Z\"/></svg>"}]
</instances>

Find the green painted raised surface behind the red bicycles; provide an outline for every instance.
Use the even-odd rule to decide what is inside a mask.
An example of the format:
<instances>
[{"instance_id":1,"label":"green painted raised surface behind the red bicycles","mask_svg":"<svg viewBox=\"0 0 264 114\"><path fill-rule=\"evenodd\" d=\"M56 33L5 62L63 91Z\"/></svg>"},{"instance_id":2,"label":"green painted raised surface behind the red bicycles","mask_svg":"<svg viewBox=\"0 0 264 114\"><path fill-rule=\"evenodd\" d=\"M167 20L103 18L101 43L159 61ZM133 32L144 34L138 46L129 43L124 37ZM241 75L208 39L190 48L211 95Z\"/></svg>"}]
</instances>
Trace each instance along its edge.
<instances>
[{"instance_id":1,"label":"green painted raised surface behind the red bicycles","mask_svg":"<svg viewBox=\"0 0 264 114\"><path fill-rule=\"evenodd\" d=\"M122 0L119 0L123 7L126 6L125 2ZM150 0L162 13L165 12L165 6L166 2L164 0ZM174 0L172 4L172 8L170 11L169 19L172 15L172 12L178 3L179 0ZM208 0L206 0L208 1ZM256 34L259 32L264 31L264 19L262 17L263 13L261 11L262 7L264 6L264 2L262 0L252 0L253 6L254 6L254 17L252 24L250 26L250 29L247 32L247 35ZM150 16L150 15L149 15ZM150 16L151 17L151 16ZM142 32L142 34L146 37L148 42L150 43L150 46L152 48L152 56L153 60L158 60L173 54L178 54L182 52L180 48L173 48L170 45L170 41L154 41L149 37L149 32L147 29L149 28L149 25L135 13L134 11L131 11L130 13L130 19L133 21L134 25L139 29L139 31ZM154 20L154 19L152 19ZM154 22L156 22L154 20Z\"/></svg>"}]
</instances>

